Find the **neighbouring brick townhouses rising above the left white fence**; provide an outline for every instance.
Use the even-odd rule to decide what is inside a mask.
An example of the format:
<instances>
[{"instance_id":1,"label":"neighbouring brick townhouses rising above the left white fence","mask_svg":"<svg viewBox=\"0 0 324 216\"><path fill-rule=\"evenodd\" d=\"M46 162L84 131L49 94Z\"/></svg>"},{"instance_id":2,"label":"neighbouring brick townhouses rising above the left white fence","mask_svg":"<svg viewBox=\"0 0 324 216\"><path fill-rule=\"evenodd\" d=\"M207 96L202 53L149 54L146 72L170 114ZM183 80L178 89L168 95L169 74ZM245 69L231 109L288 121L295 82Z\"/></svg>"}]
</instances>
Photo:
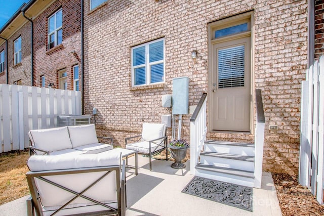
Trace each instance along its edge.
<instances>
[{"instance_id":1,"label":"neighbouring brick townhouses rising above the left white fence","mask_svg":"<svg viewBox=\"0 0 324 216\"><path fill-rule=\"evenodd\" d=\"M9 20L10 27L4 26L0 31L0 35L8 39L9 84L48 87L52 83L56 89L81 89L80 9L79 0L58 0L51 4L32 0L16 12ZM31 23L23 17L21 10L33 22L33 73ZM21 62L15 64L14 41L18 38L22 55ZM6 46L5 40L3 42L0 52ZM74 77L74 74L77 76ZM6 75L0 74L1 83L7 83Z\"/></svg>"}]
</instances>

